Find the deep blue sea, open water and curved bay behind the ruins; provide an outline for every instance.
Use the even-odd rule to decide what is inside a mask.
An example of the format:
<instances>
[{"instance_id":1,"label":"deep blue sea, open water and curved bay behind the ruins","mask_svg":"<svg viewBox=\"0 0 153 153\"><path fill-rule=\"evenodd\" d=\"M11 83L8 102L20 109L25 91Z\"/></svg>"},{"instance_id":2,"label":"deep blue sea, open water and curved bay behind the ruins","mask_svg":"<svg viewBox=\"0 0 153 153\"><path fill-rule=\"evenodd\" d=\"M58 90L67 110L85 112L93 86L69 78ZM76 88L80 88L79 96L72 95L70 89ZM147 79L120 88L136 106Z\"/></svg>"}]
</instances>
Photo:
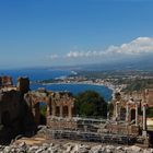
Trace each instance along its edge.
<instances>
[{"instance_id":1,"label":"deep blue sea, open water and curved bay behind the ruins","mask_svg":"<svg viewBox=\"0 0 153 153\"><path fill-rule=\"evenodd\" d=\"M13 78L14 84L19 76L28 76L31 81L40 81L47 79L55 79L61 76L68 76L71 74L70 70L55 70L55 69L19 69L19 70L1 70L0 75L11 75ZM90 84L31 84L31 90L37 90L38 87L45 87L50 91L69 91L73 95L86 90L93 90L98 92L104 96L105 101L111 99L113 91L106 86L102 85L90 85Z\"/></svg>"}]
</instances>

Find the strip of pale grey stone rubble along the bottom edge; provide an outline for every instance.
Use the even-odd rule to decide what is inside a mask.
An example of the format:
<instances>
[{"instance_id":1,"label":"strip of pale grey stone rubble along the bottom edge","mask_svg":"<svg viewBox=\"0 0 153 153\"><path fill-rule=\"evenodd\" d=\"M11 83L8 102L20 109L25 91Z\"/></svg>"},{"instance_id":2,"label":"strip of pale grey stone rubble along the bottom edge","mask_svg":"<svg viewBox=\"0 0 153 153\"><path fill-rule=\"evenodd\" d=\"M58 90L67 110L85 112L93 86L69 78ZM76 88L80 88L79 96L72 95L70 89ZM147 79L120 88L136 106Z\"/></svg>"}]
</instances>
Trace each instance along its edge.
<instances>
[{"instance_id":1,"label":"strip of pale grey stone rubble along the bottom edge","mask_svg":"<svg viewBox=\"0 0 153 153\"><path fill-rule=\"evenodd\" d=\"M81 143L44 143L42 145L27 145L22 142L20 144L10 144L8 146L0 145L0 153L153 153L153 149L142 149L132 146L115 146L115 145L89 145Z\"/></svg>"}]
</instances>

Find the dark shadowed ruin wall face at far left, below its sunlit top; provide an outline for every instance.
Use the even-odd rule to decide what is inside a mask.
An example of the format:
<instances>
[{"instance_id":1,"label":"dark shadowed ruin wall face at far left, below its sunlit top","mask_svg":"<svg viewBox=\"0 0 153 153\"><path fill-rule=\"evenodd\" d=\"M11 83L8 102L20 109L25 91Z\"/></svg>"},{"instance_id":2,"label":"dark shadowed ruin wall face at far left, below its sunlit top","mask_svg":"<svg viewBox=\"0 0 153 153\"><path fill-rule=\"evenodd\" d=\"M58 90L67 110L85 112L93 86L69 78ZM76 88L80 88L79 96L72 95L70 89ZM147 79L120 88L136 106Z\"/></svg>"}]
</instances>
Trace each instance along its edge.
<instances>
[{"instance_id":1,"label":"dark shadowed ruin wall face at far left, below its sunlit top","mask_svg":"<svg viewBox=\"0 0 153 153\"><path fill-rule=\"evenodd\" d=\"M32 133L36 130L31 109L20 91L0 90L0 143L20 133Z\"/></svg>"}]
</instances>

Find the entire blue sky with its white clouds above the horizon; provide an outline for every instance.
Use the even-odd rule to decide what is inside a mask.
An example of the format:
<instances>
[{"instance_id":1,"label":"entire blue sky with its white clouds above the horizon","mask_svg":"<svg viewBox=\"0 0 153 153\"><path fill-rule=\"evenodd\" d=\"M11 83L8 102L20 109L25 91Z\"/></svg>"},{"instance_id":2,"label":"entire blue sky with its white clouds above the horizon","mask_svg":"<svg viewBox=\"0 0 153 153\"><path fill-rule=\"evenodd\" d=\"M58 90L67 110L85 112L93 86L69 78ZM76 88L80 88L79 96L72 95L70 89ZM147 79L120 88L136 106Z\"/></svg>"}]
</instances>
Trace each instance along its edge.
<instances>
[{"instance_id":1,"label":"entire blue sky with its white clouds above the horizon","mask_svg":"<svg viewBox=\"0 0 153 153\"><path fill-rule=\"evenodd\" d=\"M0 0L1 68L111 62L152 52L152 0Z\"/></svg>"}]
</instances>

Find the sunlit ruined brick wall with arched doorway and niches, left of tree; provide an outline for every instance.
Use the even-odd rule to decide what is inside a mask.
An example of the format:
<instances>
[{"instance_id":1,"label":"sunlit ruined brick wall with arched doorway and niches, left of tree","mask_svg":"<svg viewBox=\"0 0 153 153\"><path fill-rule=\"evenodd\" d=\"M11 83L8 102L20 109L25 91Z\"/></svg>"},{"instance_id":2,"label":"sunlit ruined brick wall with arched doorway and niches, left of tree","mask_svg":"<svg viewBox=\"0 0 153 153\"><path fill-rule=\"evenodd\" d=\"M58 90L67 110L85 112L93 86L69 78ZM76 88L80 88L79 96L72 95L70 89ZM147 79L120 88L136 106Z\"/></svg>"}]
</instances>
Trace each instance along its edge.
<instances>
[{"instance_id":1,"label":"sunlit ruined brick wall with arched doorway and niches, left of tree","mask_svg":"<svg viewBox=\"0 0 153 153\"><path fill-rule=\"evenodd\" d=\"M63 118L72 118L73 116L74 98L69 92L50 92L38 89L37 91L30 91L24 94L24 99L32 109L36 125L42 125L39 105L42 102L46 104L47 126L50 123L50 120L47 119L50 116Z\"/></svg>"}]
</instances>

